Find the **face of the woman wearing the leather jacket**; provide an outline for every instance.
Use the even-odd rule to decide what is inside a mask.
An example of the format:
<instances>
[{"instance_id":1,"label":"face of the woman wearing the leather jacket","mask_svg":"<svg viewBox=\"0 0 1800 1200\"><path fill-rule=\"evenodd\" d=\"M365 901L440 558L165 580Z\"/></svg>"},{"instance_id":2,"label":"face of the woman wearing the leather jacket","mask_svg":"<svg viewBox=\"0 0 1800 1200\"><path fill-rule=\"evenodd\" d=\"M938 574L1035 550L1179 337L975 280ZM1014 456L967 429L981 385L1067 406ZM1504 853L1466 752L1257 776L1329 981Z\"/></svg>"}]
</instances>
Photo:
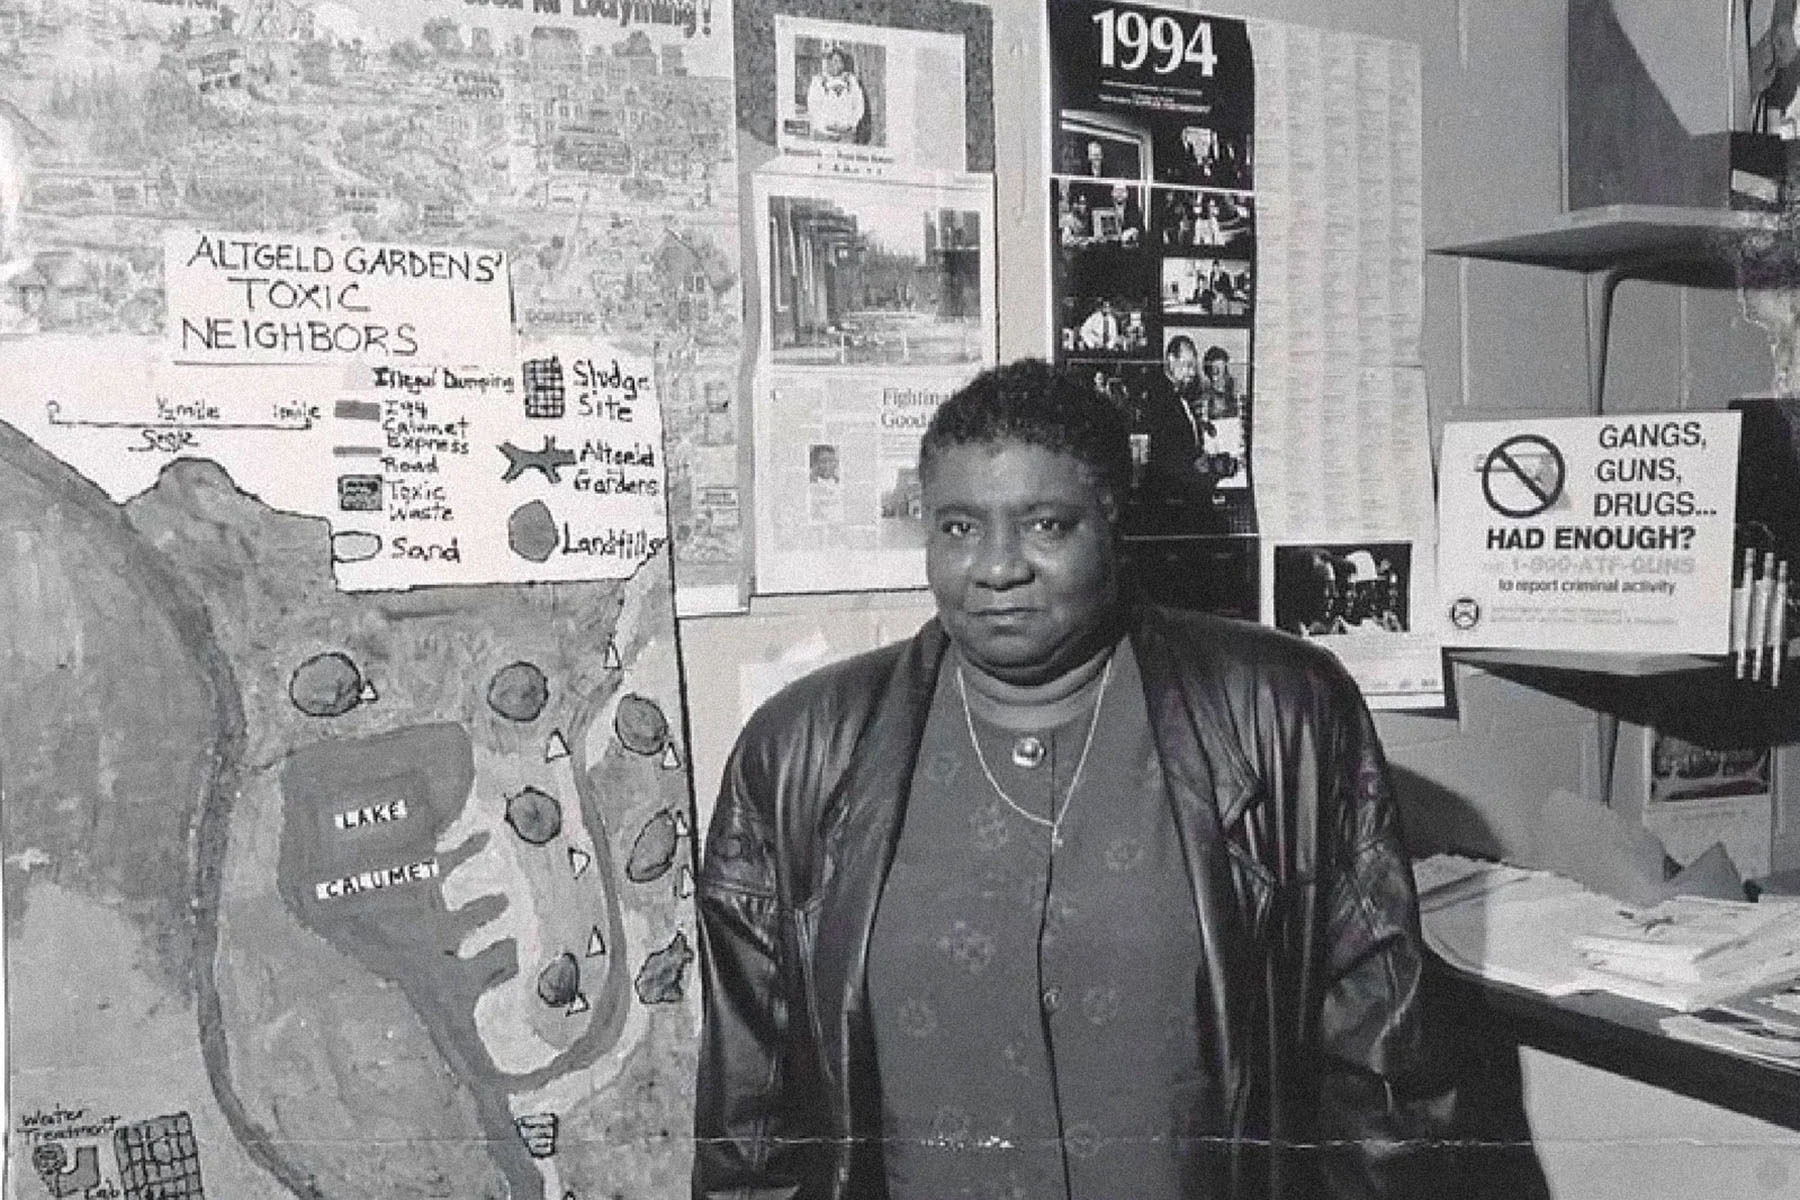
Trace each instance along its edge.
<instances>
[{"instance_id":1,"label":"face of the woman wearing the leather jacket","mask_svg":"<svg viewBox=\"0 0 1800 1200\"><path fill-rule=\"evenodd\" d=\"M1076 459L1013 441L949 446L923 484L925 578L974 666L1040 684L1098 649L1118 604L1116 540Z\"/></svg>"}]
</instances>

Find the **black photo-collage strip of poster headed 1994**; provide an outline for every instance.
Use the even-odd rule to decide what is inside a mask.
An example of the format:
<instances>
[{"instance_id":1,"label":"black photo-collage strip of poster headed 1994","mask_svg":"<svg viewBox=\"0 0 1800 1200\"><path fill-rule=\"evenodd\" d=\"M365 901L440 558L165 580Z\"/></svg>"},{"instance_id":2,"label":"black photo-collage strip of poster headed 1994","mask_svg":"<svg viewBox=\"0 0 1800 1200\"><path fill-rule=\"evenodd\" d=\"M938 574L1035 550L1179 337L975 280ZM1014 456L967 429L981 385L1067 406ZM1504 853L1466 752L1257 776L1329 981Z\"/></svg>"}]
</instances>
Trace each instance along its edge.
<instances>
[{"instance_id":1,"label":"black photo-collage strip of poster headed 1994","mask_svg":"<svg viewBox=\"0 0 1800 1200\"><path fill-rule=\"evenodd\" d=\"M1085 0L1053 0L1048 29L1053 358L1129 421L1152 594L1256 619L1249 32Z\"/></svg>"}]
</instances>

